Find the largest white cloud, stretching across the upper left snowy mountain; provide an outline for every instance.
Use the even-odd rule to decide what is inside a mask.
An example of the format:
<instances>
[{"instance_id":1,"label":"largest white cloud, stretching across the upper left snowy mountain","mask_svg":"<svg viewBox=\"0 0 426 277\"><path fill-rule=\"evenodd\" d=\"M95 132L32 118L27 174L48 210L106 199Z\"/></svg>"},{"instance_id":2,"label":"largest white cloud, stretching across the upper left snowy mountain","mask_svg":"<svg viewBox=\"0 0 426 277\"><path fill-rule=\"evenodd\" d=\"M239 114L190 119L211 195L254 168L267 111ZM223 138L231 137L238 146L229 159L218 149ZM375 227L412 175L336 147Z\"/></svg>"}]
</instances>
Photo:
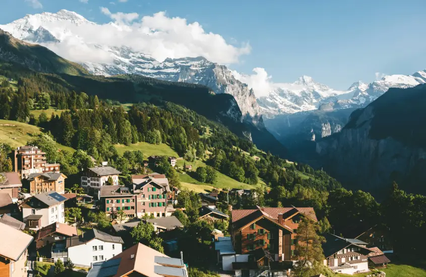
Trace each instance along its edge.
<instances>
[{"instance_id":1,"label":"largest white cloud, stretching across the upper left snowy mountain","mask_svg":"<svg viewBox=\"0 0 426 277\"><path fill-rule=\"evenodd\" d=\"M79 25L68 21L42 23L60 40L60 43L45 46L76 62L98 63L111 62L112 57L107 49L97 45L127 46L159 61L167 57L204 56L221 64L236 63L241 55L251 51L249 43L240 46L229 44L221 35L206 32L198 22L188 23L184 18L167 17L164 12L139 19L136 13L112 13L104 7L101 12L113 22L102 25L88 21Z\"/></svg>"}]
</instances>

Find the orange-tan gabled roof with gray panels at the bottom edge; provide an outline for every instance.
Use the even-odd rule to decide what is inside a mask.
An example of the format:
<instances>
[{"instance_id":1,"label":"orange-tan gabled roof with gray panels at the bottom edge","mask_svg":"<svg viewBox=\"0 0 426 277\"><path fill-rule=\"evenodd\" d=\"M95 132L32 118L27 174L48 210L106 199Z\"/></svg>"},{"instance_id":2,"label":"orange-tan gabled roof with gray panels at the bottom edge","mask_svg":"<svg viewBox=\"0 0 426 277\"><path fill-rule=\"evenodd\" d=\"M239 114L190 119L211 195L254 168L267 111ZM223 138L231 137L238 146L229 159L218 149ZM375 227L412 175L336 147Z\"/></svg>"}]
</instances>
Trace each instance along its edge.
<instances>
[{"instance_id":1,"label":"orange-tan gabled roof with gray panels at the bottom edge","mask_svg":"<svg viewBox=\"0 0 426 277\"><path fill-rule=\"evenodd\" d=\"M146 277L188 277L181 259L170 258L141 243L107 261L94 263L87 277L133 276L132 273Z\"/></svg>"}]
</instances>

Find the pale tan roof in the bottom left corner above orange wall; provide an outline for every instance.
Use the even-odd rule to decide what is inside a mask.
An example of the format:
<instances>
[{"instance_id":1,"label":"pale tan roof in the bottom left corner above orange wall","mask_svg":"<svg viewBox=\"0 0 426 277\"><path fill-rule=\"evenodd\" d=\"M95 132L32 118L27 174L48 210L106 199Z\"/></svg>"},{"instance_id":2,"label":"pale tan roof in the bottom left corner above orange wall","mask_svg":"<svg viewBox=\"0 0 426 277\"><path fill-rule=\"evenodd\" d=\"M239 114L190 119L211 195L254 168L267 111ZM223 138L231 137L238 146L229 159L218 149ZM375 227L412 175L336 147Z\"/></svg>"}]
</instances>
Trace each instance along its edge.
<instances>
[{"instance_id":1,"label":"pale tan roof in the bottom left corner above orange wall","mask_svg":"<svg viewBox=\"0 0 426 277\"><path fill-rule=\"evenodd\" d=\"M33 237L0 223L0 256L17 261L28 248Z\"/></svg>"}]
</instances>

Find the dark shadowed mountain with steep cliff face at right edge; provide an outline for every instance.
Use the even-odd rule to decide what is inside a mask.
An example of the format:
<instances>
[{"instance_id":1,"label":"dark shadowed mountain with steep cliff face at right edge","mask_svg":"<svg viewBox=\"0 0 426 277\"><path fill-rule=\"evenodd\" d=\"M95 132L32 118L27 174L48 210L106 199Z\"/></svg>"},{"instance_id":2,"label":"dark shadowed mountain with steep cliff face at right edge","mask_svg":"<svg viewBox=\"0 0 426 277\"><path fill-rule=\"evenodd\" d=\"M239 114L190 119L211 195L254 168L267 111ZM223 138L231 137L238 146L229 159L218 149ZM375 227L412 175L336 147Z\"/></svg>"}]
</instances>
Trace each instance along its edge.
<instances>
[{"instance_id":1,"label":"dark shadowed mountain with steep cliff face at right edge","mask_svg":"<svg viewBox=\"0 0 426 277\"><path fill-rule=\"evenodd\" d=\"M401 182L403 189L407 191L424 193L426 186L422 184L426 180L426 151L421 141L420 144L410 143L414 138L412 136L418 138L424 132L407 132L402 129L404 122L392 121L392 118L384 114L393 109L388 106L390 102L395 106L401 105L401 109L413 99L424 103L425 97L422 94L426 93L426 86L411 90L413 91L390 90L389 97L379 98L376 100L378 103L375 101L368 107L355 111L349 123L339 133L319 140L316 144L319 165L347 187L371 191L378 197L383 196L393 180ZM408 96L405 97L405 102L404 97L401 99L401 93ZM419 109L411 106L411 110L405 109L406 114L397 116L424 118L424 111L420 110L420 106L417 106ZM395 112L398 113L398 109ZM386 120L392 122L385 122ZM396 130L380 130L379 134L378 130L383 125L392 126ZM392 135L400 132L404 136Z\"/></svg>"}]
</instances>

